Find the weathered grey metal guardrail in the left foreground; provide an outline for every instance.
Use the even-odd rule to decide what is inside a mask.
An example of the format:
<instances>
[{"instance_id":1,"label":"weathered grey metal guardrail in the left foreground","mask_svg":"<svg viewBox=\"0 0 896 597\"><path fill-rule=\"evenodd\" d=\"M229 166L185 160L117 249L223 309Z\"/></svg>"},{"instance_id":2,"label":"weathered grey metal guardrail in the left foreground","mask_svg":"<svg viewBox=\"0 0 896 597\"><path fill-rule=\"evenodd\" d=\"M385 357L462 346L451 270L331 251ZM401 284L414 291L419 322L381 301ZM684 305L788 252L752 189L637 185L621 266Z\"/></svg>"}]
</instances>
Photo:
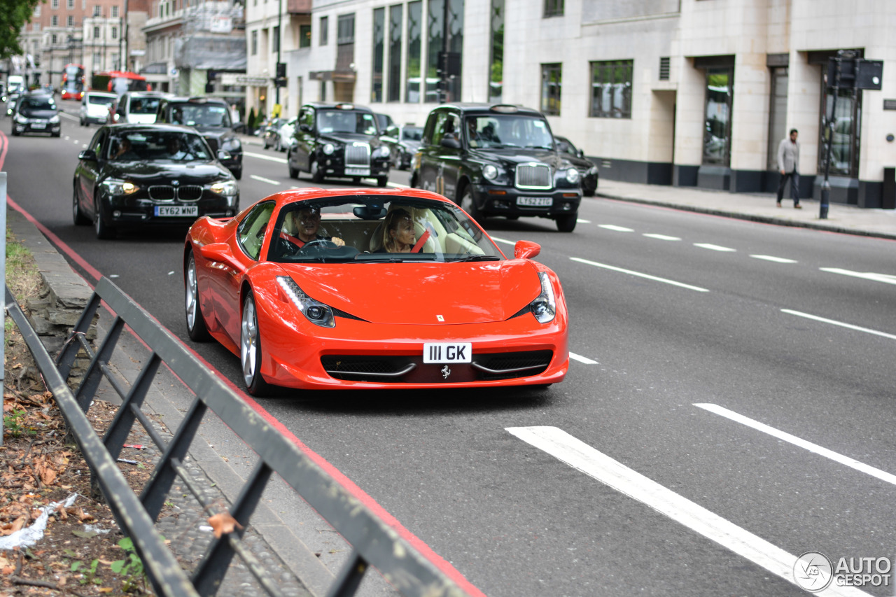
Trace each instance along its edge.
<instances>
[{"instance_id":1,"label":"weathered grey metal guardrail in the left foreground","mask_svg":"<svg viewBox=\"0 0 896 597\"><path fill-rule=\"evenodd\" d=\"M101 302L105 302L116 316L106 337L101 341L98 339L99 348L94 353L85 340L85 334ZM142 307L107 278L102 278L97 284L69 341L59 351L56 363L47 354L8 287L6 309L22 332L70 432L90 464L94 483L106 497L119 527L134 541L134 548L142 558L158 595L214 595L234 555L243 559L246 567L268 594L280 595L277 580L266 575L251 551L240 541L272 473L280 475L352 546L349 561L336 575L329 589L329 597L354 595L368 566L376 567L392 587L407 597L467 595L407 541L401 539L397 532L323 472L297 446L271 428L236 392L205 368L180 341L161 328ZM108 368L109 358L125 324L151 350L149 359L144 361L130 387L124 387ZM81 349L90 355L90 367L73 394L65 379ZM142 402L162 362L196 396L184 420L168 442L159 436L141 410ZM104 377L121 397L122 405L105 437L100 440L84 413L90 407L90 401ZM254 449L259 459L230 510L230 515L244 528L213 540L194 569L192 577L187 578L185 571L177 564L174 555L155 531L153 523L178 477L203 507L209 506L202 496L202 488L196 486L183 466L187 449L199 428L202 416L208 410L217 414L247 446ZM116 458L134 422L141 423L162 454L139 499L116 464Z\"/></svg>"}]
</instances>

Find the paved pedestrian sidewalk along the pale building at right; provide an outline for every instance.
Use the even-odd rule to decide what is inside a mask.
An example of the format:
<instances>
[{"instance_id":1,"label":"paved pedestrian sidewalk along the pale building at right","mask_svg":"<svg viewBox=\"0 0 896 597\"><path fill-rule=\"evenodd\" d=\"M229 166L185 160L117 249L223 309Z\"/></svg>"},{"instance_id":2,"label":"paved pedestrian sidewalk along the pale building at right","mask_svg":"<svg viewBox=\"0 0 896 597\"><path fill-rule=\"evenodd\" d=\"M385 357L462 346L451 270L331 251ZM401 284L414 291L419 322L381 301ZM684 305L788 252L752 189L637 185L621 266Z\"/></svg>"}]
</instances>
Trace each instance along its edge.
<instances>
[{"instance_id":1,"label":"paved pedestrian sidewalk along the pale building at right","mask_svg":"<svg viewBox=\"0 0 896 597\"><path fill-rule=\"evenodd\" d=\"M801 199L803 209L785 198L775 205L773 193L729 193L694 186L641 185L601 178L597 195L633 203L650 203L691 212L761 221L780 226L797 226L896 240L896 210L863 209L830 203L826 220L819 218L819 203Z\"/></svg>"}]
</instances>

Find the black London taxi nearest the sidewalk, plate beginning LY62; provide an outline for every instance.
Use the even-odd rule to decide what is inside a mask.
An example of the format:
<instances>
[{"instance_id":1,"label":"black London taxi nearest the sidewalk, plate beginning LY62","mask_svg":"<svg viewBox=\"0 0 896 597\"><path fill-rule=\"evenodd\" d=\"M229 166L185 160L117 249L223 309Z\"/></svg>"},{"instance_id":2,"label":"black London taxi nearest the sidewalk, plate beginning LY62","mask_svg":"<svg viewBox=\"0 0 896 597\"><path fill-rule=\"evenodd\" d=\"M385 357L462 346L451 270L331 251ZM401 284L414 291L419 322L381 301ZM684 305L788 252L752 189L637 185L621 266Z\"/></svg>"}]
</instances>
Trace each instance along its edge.
<instances>
[{"instance_id":1,"label":"black London taxi nearest the sidewalk, plate beginning LY62","mask_svg":"<svg viewBox=\"0 0 896 597\"><path fill-rule=\"evenodd\" d=\"M538 110L508 104L445 104L426 119L410 186L435 191L474 219L549 218L572 232L580 174L556 151Z\"/></svg>"}]
</instances>

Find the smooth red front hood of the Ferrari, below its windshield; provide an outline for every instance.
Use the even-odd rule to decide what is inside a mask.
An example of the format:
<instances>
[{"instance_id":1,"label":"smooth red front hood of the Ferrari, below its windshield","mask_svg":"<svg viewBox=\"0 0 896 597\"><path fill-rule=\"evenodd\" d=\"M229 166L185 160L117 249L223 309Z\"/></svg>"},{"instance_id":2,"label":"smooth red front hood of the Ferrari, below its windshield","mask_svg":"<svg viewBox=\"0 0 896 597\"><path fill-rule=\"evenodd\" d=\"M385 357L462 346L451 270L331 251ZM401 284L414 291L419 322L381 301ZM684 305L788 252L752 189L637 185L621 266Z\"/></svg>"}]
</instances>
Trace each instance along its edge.
<instances>
[{"instance_id":1,"label":"smooth red front hood of the Ferrari, below its windshield","mask_svg":"<svg viewBox=\"0 0 896 597\"><path fill-rule=\"evenodd\" d=\"M529 262L280 264L312 299L375 324L504 321L541 291Z\"/></svg>"}]
</instances>

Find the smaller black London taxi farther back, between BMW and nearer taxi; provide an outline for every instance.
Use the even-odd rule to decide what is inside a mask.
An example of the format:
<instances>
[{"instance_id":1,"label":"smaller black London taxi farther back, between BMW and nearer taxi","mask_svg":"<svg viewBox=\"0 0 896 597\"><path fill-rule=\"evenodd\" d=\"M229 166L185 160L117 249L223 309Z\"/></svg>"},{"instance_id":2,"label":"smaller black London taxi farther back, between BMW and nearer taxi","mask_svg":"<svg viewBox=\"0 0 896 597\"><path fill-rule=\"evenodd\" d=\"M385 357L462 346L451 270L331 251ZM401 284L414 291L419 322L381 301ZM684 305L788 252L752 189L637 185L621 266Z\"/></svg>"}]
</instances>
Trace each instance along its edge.
<instances>
[{"instance_id":1,"label":"smaller black London taxi farther back, between BMW and nearer taxi","mask_svg":"<svg viewBox=\"0 0 896 597\"><path fill-rule=\"evenodd\" d=\"M379 138L373 110L358 104L309 102L298 113L287 149L289 177L310 172L315 183L324 177L376 178L389 182L389 146Z\"/></svg>"}]
</instances>

